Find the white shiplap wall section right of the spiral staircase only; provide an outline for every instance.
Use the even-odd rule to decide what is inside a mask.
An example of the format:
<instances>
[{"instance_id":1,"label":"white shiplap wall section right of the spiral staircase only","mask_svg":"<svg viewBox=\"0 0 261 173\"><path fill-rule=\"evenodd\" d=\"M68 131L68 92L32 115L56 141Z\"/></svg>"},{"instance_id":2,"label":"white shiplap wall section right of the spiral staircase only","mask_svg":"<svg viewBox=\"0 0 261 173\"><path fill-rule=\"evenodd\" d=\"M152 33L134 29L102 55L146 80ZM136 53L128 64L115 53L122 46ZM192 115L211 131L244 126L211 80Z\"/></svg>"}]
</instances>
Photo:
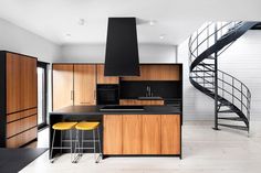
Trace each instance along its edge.
<instances>
[{"instance_id":1,"label":"white shiplap wall section right of the spiral staircase only","mask_svg":"<svg viewBox=\"0 0 261 173\"><path fill-rule=\"evenodd\" d=\"M250 30L219 58L219 68L250 89L251 119L261 120L261 31Z\"/></svg>"}]
</instances>

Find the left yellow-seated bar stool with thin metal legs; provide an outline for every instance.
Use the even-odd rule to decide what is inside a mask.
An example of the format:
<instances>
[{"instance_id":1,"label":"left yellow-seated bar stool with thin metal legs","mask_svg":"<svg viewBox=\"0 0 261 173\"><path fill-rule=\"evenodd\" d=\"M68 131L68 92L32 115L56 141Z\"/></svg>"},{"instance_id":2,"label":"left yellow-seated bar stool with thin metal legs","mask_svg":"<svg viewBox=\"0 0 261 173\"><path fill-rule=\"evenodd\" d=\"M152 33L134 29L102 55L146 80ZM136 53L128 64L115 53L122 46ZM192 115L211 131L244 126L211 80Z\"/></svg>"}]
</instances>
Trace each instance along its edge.
<instances>
[{"instance_id":1,"label":"left yellow-seated bar stool with thin metal legs","mask_svg":"<svg viewBox=\"0 0 261 173\"><path fill-rule=\"evenodd\" d=\"M73 153L73 137L72 137L72 130L74 127L77 125L77 122L58 122L52 126L53 129L53 138L52 138L52 145L51 145L51 158L53 155L53 150L60 149L60 153L62 153L63 149L70 149L71 150L71 162L72 160L72 153ZM54 147L54 140L55 140L55 132L56 130L61 131L61 145L60 147ZM64 140L63 139L63 131L70 131L70 140ZM70 142L70 147L63 147L63 142ZM51 159L51 163L54 162L54 159Z\"/></svg>"}]
</instances>

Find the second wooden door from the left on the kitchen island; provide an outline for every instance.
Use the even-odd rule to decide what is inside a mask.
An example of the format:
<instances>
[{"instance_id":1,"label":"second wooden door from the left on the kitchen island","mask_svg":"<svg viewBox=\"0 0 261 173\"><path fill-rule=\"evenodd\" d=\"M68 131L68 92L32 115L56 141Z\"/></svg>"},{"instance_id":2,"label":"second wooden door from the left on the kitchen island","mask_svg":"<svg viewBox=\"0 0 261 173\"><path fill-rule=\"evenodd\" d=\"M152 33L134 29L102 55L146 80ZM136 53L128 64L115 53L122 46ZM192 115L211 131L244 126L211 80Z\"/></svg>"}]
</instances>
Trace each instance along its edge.
<instances>
[{"instance_id":1,"label":"second wooden door from the left on the kitchen island","mask_svg":"<svg viewBox=\"0 0 261 173\"><path fill-rule=\"evenodd\" d=\"M123 154L142 153L142 116L123 116Z\"/></svg>"}]
</instances>

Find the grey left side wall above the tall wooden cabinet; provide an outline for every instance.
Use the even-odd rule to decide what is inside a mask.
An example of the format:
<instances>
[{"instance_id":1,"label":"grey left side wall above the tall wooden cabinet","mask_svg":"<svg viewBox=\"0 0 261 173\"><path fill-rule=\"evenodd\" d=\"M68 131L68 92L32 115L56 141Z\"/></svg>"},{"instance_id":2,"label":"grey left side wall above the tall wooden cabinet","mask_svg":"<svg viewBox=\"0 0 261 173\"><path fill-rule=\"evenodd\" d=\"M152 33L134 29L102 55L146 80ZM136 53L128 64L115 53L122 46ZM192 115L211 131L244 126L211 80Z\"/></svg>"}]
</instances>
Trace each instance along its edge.
<instances>
[{"instance_id":1,"label":"grey left side wall above the tall wooden cabinet","mask_svg":"<svg viewBox=\"0 0 261 173\"><path fill-rule=\"evenodd\" d=\"M60 46L0 19L0 50L38 57L53 62L60 57Z\"/></svg>"}]
</instances>

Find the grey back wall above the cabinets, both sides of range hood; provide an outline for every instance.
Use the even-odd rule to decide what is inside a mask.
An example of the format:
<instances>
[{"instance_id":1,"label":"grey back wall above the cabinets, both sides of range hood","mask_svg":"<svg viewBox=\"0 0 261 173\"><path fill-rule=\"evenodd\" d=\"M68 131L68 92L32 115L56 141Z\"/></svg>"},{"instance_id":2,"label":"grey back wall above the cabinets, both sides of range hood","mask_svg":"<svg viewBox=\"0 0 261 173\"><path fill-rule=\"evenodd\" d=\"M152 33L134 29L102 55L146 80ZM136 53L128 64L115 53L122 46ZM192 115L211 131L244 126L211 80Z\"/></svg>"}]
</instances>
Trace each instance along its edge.
<instances>
[{"instance_id":1,"label":"grey back wall above the cabinets, both sides of range hood","mask_svg":"<svg viewBox=\"0 0 261 173\"><path fill-rule=\"evenodd\" d=\"M174 63L177 46L163 44L139 44L140 63ZM67 44L62 45L58 62L104 63L105 44Z\"/></svg>"}]
</instances>

